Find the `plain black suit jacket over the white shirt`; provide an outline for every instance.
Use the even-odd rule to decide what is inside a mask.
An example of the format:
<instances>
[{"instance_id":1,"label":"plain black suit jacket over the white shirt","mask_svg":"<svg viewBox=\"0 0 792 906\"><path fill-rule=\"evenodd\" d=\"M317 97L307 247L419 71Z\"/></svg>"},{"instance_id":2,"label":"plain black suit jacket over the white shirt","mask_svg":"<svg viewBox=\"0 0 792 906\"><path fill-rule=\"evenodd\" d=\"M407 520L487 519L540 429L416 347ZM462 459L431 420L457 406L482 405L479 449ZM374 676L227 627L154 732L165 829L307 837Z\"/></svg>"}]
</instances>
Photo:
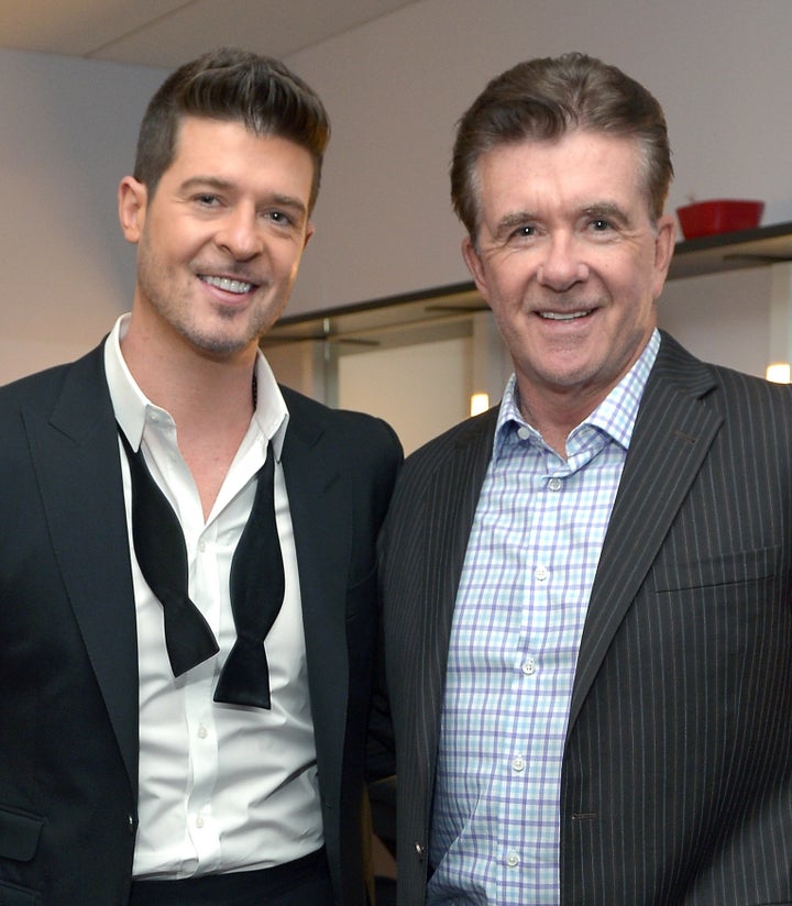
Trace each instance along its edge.
<instances>
[{"instance_id":1,"label":"plain black suit jacket over the white shirt","mask_svg":"<svg viewBox=\"0 0 792 906\"><path fill-rule=\"evenodd\" d=\"M284 397L327 851L338 903L364 904L374 543L400 446L382 421ZM0 390L0 903L125 904L138 650L101 346Z\"/></svg>"}]
</instances>

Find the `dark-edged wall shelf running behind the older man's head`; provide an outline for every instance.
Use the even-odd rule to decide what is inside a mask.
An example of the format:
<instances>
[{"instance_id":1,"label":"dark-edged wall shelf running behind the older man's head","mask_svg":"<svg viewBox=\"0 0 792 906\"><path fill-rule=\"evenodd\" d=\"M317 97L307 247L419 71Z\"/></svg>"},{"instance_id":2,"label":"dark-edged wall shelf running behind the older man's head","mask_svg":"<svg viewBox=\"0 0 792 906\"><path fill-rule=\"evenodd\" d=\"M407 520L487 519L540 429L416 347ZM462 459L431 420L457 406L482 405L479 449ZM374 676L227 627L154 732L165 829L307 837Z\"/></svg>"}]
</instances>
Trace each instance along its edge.
<instances>
[{"instance_id":1,"label":"dark-edged wall shelf running behind the older man's head","mask_svg":"<svg viewBox=\"0 0 792 906\"><path fill-rule=\"evenodd\" d=\"M676 243L669 279L792 262L792 221ZM361 345L405 342L405 332L426 333L486 309L473 281L373 299L341 308L282 318L262 346L305 340Z\"/></svg>"}]
</instances>

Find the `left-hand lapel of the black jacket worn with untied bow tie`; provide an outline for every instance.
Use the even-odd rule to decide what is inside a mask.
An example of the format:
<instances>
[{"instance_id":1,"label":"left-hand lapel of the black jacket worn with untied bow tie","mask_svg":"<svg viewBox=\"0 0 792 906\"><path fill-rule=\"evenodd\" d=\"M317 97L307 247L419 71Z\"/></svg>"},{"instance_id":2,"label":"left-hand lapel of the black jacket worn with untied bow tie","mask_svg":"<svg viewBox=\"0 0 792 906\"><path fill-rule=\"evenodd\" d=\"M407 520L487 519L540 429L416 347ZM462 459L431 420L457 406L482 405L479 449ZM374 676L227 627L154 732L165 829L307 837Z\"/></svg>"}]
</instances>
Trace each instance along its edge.
<instances>
[{"instance_id":1,"label":"left-hand lapel of the black jacket worn with untied bow tie","mask_svg":"<svg viewBox=\"0 0 792 906\"><path fill-rule=\"evenodd\" d=\"M136 792L134 596L102 346L69 367L50 419L23 420L66 594Z\"/></svg>"}]
</instances>

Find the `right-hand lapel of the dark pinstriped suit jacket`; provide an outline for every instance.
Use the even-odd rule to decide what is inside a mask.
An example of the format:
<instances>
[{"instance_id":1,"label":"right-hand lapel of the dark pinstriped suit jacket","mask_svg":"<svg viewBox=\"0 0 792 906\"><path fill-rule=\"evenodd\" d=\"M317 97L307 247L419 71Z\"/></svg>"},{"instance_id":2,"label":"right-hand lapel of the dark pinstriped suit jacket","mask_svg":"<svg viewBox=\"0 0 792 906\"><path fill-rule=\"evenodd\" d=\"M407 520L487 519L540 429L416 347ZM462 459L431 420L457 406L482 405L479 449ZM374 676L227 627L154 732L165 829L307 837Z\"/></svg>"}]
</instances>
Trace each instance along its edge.
<instances>
[{"instance_id":1,"label":"right-hand lapel of the dark pinstriped suit jacket","mask_svg":"<svg viewBox=\"0 0 792 906\"><path fill-rule=\"evenodd\" d=\"M570 728L721 427L701 402L713 386L707 366L663 334L592 588Z\"/></svg>"}]
</instances>

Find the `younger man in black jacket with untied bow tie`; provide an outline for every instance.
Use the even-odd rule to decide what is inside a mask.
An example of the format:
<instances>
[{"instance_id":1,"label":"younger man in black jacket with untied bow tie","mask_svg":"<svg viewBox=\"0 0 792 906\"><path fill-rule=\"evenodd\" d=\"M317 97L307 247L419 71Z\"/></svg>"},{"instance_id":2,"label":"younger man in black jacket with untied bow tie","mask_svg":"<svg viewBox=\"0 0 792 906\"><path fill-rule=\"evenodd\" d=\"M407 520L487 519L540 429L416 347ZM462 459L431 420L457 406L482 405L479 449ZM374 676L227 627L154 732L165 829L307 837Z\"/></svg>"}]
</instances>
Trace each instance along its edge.
<instances>
[{"instance_id":1,"label":"younger man in black jacket with untied bow tie","mask_svg":"<svg viewBox=\"0 0 792 906\"><path fill-rule=\"evenodd\" d=\"M374 542L400 446L258 350L329 122L282 64L174 73L119 216L131 313L0 390L0 902L371 902Z\"/></svg>"}]
</instances>

